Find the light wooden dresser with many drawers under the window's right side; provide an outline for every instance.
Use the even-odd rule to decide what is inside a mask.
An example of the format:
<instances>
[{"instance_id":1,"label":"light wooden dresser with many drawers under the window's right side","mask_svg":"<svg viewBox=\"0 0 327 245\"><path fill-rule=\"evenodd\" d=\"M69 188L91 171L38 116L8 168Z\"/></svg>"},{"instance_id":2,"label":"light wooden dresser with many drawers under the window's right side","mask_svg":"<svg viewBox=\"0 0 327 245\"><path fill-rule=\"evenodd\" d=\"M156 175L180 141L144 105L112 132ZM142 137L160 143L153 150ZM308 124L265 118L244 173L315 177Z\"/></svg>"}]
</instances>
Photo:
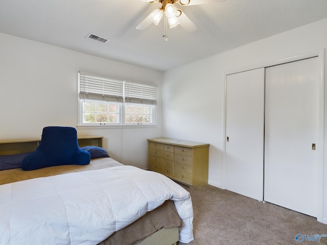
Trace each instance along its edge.
<instances>
[{"instance_id":1,"label":"light wooden dresser with many drawers under the window's right side","mask_svg":"<svg viewBox=\"0 0 327 245\"><path fill-rule=\"evenodd\" d=\"M190 187L207 184L208 150L206 143L148 139L148 168Z\"/></svg>"}]
</instances>

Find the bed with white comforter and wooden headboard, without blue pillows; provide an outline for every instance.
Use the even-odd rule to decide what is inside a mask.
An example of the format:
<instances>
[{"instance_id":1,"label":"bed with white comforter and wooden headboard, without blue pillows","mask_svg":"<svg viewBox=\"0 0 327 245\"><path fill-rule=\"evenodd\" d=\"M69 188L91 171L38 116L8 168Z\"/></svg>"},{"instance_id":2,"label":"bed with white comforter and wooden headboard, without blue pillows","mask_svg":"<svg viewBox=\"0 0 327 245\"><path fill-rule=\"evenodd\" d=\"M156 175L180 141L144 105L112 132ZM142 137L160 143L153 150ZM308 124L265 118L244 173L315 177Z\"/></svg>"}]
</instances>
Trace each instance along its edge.
<instances>
[{"instance_id":1,"label":"bed with white comforter and wooden headboard, without blue pillows","mask_svg":"<svg viewBox=\"0 0 327 245\"><path fill-rule=\"evenodd\" d=\"M39 142L0 140L0 156L29 153ZM102 147L103 137L79 137L78 142L80 147ZM0 244L170 245L193 240L189 192L165 176L110 157L91 159L88 165L0 170L0 195Z\"/></svg>"}]
</instances>

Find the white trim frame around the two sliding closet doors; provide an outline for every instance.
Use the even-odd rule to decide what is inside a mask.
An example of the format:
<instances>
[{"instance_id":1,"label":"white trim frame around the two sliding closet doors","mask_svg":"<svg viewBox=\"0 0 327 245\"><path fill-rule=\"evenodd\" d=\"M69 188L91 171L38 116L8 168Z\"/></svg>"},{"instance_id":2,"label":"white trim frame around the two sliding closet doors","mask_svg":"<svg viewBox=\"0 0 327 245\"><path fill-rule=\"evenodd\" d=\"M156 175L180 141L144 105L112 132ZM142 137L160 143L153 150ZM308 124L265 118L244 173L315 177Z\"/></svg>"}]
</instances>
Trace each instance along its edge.
<instances>
[{"instance_id":1,"label":"white trim frame around the two sliding closet doors","mask_svg":"<svg viewBox=\"0 0 327 245\"><path fill-rule=\"evenodd\" d=\"M284 63L289 63L293 61L298 61L302 59L308 59L313 57L318 57L319 60L319 92L318 92L318 140L316 144L317 151L317 220L318 222L327 224L327 155L324 156L324 152L327 153L327 131L324 130L324 117L327 117L327 112L325 113L325 108L327 108L327 101L325 101L324 94L325 89L325 51L317 50L301 55L296 55L288 58L283 58L275 61L265 62L258 65L252 65L248 67L243 67L235 70L230 70L225 72L225 92L224 92L224 108L223 108L223 178L222 178L222 188L225 189L225 154L226 154L226 88L227 88L227 76L235 74L237 72L243 72L252 69L266 68L273 65L280 65ZM326 106L325 106L326 104ZM327 118L326 118L327 121ZM325 158L325 159L324 159ZM324 171L325 169L325 171ZM324 173L325 172L325 173ZM324 188L324 183L326 187ZM305 196L303 196L305 198ZM323 205L325 203L325 205ZM325 206L325 207L324 207Z\"/></svg>"}]
</instances>

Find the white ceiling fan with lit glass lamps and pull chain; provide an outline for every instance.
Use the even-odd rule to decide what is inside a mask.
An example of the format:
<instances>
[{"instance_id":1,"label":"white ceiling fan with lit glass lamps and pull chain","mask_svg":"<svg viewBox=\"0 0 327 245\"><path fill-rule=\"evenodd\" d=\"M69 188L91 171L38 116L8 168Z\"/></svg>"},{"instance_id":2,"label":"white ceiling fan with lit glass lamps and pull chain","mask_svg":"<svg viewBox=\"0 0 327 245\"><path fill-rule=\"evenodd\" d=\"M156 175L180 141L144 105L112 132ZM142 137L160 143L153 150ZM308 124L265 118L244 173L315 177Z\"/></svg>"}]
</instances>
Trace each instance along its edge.
<instances>
[{"instance_id":1,"label":"white ceiling fan with lit glass lamps and pull chain","mask_svg":"<svg viewBox=\"0 0 327 245\"><path fill-rule=\"evenodd\" d=\"M161 18L164 16L165 18L165 33L162 35L168 40L167 36L167 28L173 28L180 26L184 28L188 32L194 32L198 28L195 26L193 21L186 16L186 14L177 9L174 4L180 4L181 6L191 6L191 5L199 5L199 4L207 4L214 2L223 2L226 0L141 0L143 2L148 3L161 3L161 7L152 11L141 23L136 27L137 30L145 30L152 23L156 26L160 22Z\"/></svg>"}]
</instances>

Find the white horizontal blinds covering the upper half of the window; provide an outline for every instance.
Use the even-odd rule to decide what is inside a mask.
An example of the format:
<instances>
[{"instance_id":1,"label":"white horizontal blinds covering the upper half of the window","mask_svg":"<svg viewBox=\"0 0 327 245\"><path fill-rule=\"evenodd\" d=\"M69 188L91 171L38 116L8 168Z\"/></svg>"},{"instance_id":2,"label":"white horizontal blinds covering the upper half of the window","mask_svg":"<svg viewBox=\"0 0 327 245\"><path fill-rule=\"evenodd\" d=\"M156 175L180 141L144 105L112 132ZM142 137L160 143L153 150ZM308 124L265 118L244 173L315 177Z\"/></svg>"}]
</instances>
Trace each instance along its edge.
<instances>
[{"instance_id":1,"label":"white horizontal blinds covering the upper half of the window","mask_svg":"<svg viewBox=\"0 0 327 245\"><path fill-rule=\"evenodd\" d=\"M137 104L156 104L156 86L126 82L79 71L80 99L128 102Z\"/></svg>"}]
</instances>

